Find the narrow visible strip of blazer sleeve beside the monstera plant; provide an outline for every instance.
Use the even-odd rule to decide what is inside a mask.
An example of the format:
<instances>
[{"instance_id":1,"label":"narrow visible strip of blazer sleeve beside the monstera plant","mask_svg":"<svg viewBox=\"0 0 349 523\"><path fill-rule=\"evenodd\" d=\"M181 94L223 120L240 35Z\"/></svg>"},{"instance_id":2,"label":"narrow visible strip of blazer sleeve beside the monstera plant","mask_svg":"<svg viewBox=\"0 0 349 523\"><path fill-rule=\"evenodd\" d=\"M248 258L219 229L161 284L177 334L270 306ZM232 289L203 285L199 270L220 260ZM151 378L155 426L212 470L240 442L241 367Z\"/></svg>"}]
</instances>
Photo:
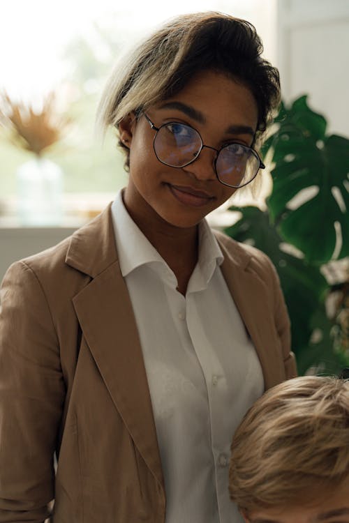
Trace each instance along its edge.
<instances>
[{"instance_id":1,"label":"narrow visible strip of blazer sleeve beside the monstera plant","mask_svg":"<svg viewBox=\"0 0 349 523\"><path fill-rule=\"evenodd\" d=\"M291 351L291 335L290 335L290 319L285 304L285 298L281 290L279 275L276 268L269 261L269 266L272 270L273 292L274 292L274 321L276 331L281 340L281 349L283 354L283 365L285 367L285 378L297 377L297 365L295 354Z\"/></svg>"}]
</instances>

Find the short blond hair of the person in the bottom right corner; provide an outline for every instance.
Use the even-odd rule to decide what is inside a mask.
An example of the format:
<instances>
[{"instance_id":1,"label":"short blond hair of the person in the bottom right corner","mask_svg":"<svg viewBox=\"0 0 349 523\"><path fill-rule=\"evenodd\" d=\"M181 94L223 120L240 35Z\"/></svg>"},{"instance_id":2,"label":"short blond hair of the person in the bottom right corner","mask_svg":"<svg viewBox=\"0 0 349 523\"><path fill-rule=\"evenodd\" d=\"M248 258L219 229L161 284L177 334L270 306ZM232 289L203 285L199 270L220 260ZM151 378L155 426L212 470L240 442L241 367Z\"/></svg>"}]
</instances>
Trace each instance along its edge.
<instances>
[{"instance_id":1,"label":"short blond hair of the person in the bottom right corner","mask_svg":"<svg viewBox=\"0 0 349 523\"><path fill-rule=\"evenodd\" d=\"M349 380L299 377L253 404L232 440L230 497L246 514L349 486Z\"/></svg>"}]
</instances>

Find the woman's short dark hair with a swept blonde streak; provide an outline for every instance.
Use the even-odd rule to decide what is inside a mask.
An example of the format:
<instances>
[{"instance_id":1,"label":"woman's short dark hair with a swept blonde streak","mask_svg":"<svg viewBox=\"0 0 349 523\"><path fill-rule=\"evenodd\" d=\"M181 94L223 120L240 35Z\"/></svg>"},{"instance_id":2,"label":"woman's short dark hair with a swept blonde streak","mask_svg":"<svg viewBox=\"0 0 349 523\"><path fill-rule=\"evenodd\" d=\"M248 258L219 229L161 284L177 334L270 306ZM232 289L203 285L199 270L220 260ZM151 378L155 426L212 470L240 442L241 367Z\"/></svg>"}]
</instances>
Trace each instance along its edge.
<instances>
[{"instance_id":1,"label":"woman's short dark hair with a swept blonde streak","mask_svg":"<svg viewBox=\"0 0 349 523\"><path fill-rule=\"evenodd\" d=\"M246 20L222 13L193 13L170 20L142 42L110 76L98 107L103 132L131 112L176 95L202 70L241 82L258 105L260 138L279 106L279 72L262 59L262 43ZM119 141L128 156L128 148ZM128 167L128 159L126 160Z\"/></svg>"}]
</instances>

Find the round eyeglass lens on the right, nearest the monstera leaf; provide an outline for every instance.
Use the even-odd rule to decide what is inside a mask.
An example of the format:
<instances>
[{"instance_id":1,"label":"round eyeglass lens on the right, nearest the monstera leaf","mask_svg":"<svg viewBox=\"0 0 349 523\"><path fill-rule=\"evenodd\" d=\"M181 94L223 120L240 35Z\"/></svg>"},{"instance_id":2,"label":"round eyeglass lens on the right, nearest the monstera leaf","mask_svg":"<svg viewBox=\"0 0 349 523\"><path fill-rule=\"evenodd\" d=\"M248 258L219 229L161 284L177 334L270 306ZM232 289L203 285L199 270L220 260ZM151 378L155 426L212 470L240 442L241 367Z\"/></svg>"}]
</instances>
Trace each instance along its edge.
<instances>
[{"instance_id":1,"label":"round eyeglass lens on the right, nearest the monstera leaf","mask_svg":"<svg viewBox=\"0 0 349 523\"><path fill-rule=\"evenodd\" d=\"M216 172L219 181L232 187L241 187L255 178L260 160L250 147L229 144L218 154Z\"/></svg>"}]
</instances>

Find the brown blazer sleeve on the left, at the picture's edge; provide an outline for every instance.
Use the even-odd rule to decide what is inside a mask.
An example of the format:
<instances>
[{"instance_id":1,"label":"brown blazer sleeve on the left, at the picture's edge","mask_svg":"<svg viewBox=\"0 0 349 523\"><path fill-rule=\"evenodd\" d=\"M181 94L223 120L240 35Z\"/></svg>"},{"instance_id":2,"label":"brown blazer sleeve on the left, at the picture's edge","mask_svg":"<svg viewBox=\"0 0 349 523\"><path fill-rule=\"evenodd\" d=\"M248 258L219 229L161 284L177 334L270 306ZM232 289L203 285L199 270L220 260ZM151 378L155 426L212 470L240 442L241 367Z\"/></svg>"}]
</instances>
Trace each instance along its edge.
<instances>
[{"instance_id":1,"label":"brown blazer sleeve on the left, at the picture's edge","mask_svg":"<svg viewBox=\"0 0 349 523\"><path fill-rule=\"evenodd\" d=\"M43 523L65 386L57 335L36 274L8 269L0 309L0 523Z\"/></svg>"}]
</instances>

